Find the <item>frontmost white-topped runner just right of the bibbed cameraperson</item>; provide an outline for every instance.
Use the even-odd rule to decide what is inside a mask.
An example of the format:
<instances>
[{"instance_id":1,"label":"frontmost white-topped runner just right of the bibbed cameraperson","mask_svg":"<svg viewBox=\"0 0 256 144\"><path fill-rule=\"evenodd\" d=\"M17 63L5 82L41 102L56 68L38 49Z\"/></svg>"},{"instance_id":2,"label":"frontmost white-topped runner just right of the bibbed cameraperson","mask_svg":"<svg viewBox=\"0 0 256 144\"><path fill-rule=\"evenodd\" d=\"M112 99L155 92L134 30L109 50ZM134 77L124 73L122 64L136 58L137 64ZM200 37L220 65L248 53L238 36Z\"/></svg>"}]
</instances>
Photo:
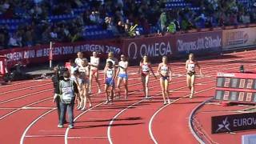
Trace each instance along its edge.
<instances>
[{"instance_id":1,"label":"frontmost white-topped runner just right of the bibbed cameraperson","mask_svg":"<svg viewBox=\"0 0 256 144\"><path fill-rule=\"evenodd\" d=\"M82 99L80 102L80 108L82 107L82 110L86 110L86 101L88 100L89 106L91 107L91 100L90 100L90 94L89 94L89 77L90 77L90 65L86 58L82 60L82 66L79 67L80 72L80 78L82 79L82 90L81 95ZM83 106L82 106L83 102Z\"/></svg>"}]
</instances>

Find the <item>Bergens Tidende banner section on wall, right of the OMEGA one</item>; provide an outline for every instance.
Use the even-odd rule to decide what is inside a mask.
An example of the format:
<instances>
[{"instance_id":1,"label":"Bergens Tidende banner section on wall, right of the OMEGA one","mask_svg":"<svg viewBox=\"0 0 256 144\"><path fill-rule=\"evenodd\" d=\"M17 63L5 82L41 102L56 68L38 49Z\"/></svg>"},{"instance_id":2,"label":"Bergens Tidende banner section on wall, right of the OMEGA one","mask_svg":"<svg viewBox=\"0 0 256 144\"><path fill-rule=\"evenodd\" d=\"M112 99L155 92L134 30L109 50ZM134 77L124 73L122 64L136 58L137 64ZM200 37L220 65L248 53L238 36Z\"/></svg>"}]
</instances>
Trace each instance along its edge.
<instances>
[{"instance_id":1,"label":"Bergens Tidende banner section on wall, right of the OMEGA one","mask_svg":"<svg viewBox=\"0 0 256 144\"><path fill-rule=\"evenodd\" d=\"M175 35L176 55L218 54L222 50L222 31L207 31Z\"/></svg>"}]
</instances>

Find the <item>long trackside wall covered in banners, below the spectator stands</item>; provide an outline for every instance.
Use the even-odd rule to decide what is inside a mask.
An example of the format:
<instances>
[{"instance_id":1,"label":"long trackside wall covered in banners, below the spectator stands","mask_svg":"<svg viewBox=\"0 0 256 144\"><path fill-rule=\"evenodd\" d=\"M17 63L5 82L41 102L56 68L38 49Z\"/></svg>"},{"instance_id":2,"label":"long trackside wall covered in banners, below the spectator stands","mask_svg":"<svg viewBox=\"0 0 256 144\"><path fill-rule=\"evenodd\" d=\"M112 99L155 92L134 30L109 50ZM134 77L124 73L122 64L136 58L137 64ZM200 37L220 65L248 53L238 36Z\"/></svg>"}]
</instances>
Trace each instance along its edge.
<instances>
[{"instance_id":1,"label":"long trackside wall covered in banners, below the spectator stands","mask_svg":"<svg viewBox=\"0 0 256 144\"><path fill-rule=\"evenodd\" d=\"M115 38L98 41L73 43L54 43L53 61L67 61L75 58L82 51L89 58L93 51L98 51L100 58L113 51L116 57L126 54L131 63L138 63L143 55L158 62L163 55L169 58L185 58L187 54L212 56L221 54L223 50L245 49L256 46L256 27L232 27L220 30L195 30L188 33L166 34L143 38ZM38 64L49 62L50 45L22 47L1 50L6 56L8 67L17 62Z\"/></svg>"}]
</instances>

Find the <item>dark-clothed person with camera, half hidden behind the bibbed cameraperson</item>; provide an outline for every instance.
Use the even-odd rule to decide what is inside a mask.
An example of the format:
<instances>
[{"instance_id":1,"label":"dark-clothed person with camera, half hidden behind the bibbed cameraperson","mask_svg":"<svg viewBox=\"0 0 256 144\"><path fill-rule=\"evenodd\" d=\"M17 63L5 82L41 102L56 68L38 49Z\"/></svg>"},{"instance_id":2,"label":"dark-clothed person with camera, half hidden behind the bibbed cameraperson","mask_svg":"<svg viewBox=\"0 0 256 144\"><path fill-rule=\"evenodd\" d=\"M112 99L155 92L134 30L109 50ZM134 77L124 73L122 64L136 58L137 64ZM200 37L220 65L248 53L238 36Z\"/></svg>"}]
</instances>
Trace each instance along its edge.
<instances>
[{"instance_id":1,"label":"dark-clothed person with camera, half hidden behind the bibbed cameraperson","mask_svg":"<svg viewBox=\"0 0 256 144\"><path fill-rule=\"evenodd\" d=\"M58 66L54 67L54 75L51 78L54 83L54 102L56 102L57 110L58 110L58 120L60 120L61 108L60 108L60 90L59 90L59 82L63 80L63 73L66 71L66 68L58 68ZM66 111L64 112L66 114ZM66 123L66 115L64 116L64 123Z\"/></svg>"}]
</instances>

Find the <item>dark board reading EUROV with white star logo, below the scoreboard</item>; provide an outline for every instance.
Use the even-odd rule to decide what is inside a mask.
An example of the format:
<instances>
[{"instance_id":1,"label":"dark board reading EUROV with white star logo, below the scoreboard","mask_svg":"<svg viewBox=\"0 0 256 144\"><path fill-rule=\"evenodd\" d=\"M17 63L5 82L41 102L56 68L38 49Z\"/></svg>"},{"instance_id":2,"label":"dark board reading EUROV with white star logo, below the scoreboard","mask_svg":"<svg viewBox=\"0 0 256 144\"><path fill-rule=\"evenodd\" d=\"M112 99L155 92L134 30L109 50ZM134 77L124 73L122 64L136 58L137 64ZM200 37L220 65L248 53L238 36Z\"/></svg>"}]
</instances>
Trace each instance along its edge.
<instances>
[{"instance_id":1,"label":"dark board reading EUROV with white star logo, below the scoreboard","mask_svg":"<svg viewBox=\"0 0 256 144\"><path fill-rule=\"evenodd\" d=\"M256 129L256 113L232 114L211 118L212 134Z\"/></svg>"}]
</instances>

